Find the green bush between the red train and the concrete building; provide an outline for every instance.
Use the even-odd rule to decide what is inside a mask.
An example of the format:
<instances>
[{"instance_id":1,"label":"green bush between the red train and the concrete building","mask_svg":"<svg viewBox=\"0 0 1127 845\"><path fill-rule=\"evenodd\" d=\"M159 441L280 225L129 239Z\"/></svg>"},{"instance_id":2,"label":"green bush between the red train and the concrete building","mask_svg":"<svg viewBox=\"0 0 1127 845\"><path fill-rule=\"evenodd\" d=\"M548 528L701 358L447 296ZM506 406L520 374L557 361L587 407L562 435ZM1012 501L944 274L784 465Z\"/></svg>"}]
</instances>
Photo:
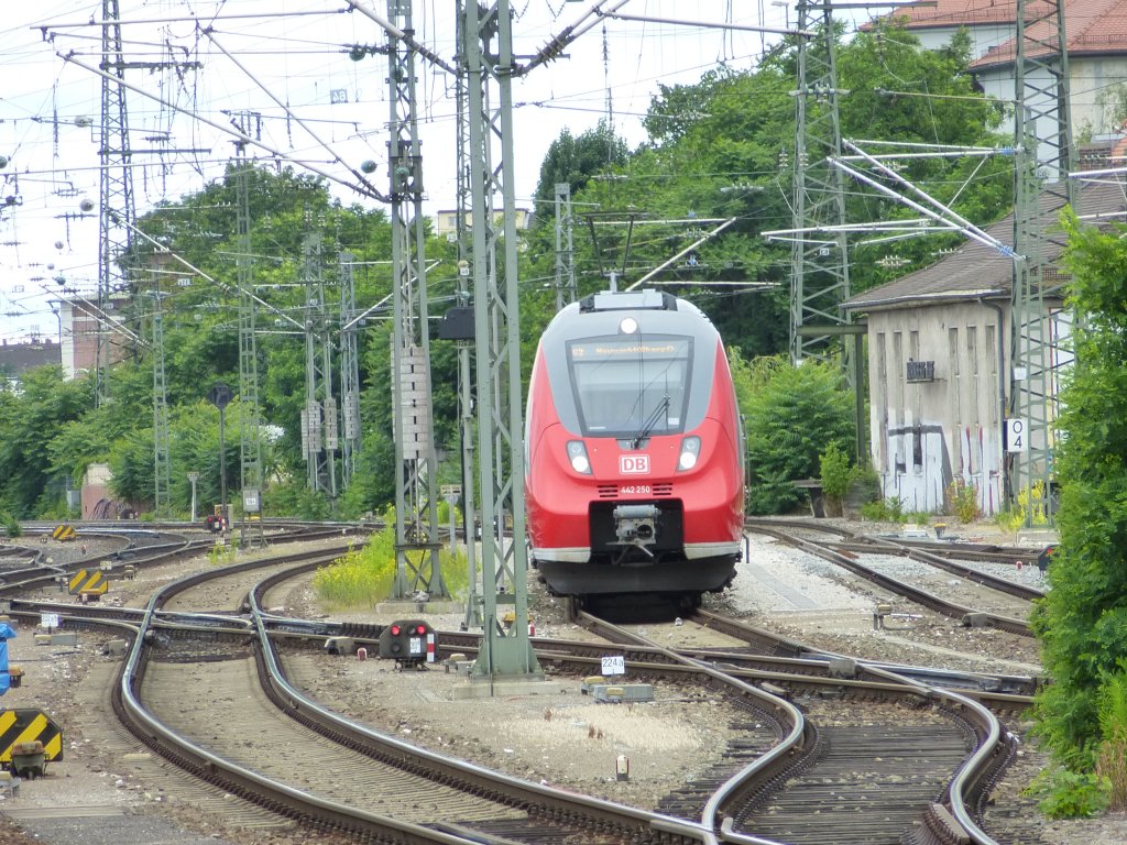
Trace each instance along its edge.
<instances>
[{"instance_id":1,"label":"green bush between the red train and the concrete building","mask_svg":"<svg viewBox=\"0 0 1127 845\"><path fill-rule=\"evenodd\" d=\"M829 364L747 363L738 350L729 359L747 434L748 510L784 513L804 495L792 482L817 477L825 444L852 447L852 397L841 370Z\"/></svg>"}]
</instances>

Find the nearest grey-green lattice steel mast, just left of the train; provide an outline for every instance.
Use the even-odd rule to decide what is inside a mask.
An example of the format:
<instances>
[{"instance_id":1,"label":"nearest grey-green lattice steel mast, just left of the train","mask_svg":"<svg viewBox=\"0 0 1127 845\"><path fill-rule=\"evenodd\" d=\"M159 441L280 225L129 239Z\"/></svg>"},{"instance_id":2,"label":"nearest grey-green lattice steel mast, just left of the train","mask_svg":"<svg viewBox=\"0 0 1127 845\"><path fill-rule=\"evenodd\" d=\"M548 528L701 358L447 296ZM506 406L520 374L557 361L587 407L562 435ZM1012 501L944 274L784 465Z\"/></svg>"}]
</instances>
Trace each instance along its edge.
<instances>
[{"instance_id":1,"label":"nearest grey-green lattice steel mast, just left of the train","mask_svg":"<svg viewBox=\"0 0 1127 845\"><path fill-rule=\"evenodd\" d=\"M487 635L478 677L531 676L540 665L529 641L524 451L521 411L516 199L513 183L512 8L508 0L463 3L463 60L470 115L469 167L473 222L473 323L477 371L478 473L481 492L482 613ZM490 94L496 92L496 104ZM500 197L503 205L495 207ZM504 284L498 256L504 251ZM512 516L512 539L506 536ZM498 630L498 605L514 623Z\"/></svg>"}]
</instances>

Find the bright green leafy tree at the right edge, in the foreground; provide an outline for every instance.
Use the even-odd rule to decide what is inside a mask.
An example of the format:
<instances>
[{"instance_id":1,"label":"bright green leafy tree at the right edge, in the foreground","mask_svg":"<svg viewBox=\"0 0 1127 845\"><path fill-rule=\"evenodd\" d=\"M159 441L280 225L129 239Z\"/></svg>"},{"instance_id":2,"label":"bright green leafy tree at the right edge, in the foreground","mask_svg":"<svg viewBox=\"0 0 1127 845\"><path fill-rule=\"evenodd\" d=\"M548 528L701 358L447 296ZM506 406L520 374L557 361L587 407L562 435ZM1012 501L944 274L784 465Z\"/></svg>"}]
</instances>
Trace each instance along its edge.
<instances>
[{"instance_id":1,"label":"bright green leafy tree at the right edge, in the foreground","mask_svg":"<svg viewBox=\"0 0 1127 845\"><path fill-rule=\"evenodd\" d=\"M1062 395L1054 452L1061 543L1032 616L1053 683L1037 695L1037 733L1055 757L1091 771L1099 701L1127 660L1127 226L1065 220L1077 364ZM1122 726L1121 726L1122 727Z\"/></svg>"}]
</instances>

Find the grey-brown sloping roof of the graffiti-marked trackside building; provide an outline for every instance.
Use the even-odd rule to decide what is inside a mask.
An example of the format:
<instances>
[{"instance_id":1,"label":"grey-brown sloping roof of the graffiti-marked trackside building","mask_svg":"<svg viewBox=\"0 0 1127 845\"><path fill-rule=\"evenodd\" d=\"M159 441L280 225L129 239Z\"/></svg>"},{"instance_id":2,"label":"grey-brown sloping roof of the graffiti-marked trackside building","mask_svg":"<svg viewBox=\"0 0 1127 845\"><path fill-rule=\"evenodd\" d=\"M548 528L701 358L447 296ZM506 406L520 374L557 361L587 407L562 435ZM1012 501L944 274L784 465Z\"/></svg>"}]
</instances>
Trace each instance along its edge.
<instances>
[{"instance_id":1,"label":"grey-brown sloping roof of the graffiti-marked trackside building","mask_svg":"<svg viewBox=\"0 0 1127 845\"><path fill-rule=\"evenodd\" d=\"M1054 226L1063 206L1062 198L1048 192L1040 196L1040 219ZM1127 210L1124 187L1110 183L1085 183L1080 197L1083 215L1115 215ZM1122 217L1119 217L1120 220ZM1051 230L1050 230L1051 231ZM986 232L1003 243L1013 243L1013 215L1009 214ZM1046 260L1055 261L1064 247L1064 233L1047 246ZM1013 286L1013 260L978 241L968 240L956 252L907 276L873 287L843 303L846 311L867 311L881 305L926 300L1009 296Z\"/></svg>"}]
</instances>

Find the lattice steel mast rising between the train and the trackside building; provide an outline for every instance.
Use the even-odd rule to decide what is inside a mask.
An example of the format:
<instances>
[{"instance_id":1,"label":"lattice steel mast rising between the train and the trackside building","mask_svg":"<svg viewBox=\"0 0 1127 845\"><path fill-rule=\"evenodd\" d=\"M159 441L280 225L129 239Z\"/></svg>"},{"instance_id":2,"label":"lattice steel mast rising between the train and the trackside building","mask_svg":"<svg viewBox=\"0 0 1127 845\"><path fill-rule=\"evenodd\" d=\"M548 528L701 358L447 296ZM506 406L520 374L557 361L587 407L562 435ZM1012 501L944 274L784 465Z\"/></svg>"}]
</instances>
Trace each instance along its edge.
<instances>
[{"instance_id":1,"label":"lattice steel mast rising between the train and the trackside building","mask_svg":"<svg viewBox=\"0 0 1127 845\"><path fill-rule=\"evenodd\" d=\"M829 0L799 0L798 90L795 92L793 228L791 243L790 358L827 359L833 337L802 327L846 322L837 305L850 295L845 234L811 234L845 222L844 179L828 157L841 155L836 44ZM802 33L809 33L804 35ZM843 349L852 373L850 349Z\"/></svg>"}]
</instances>

